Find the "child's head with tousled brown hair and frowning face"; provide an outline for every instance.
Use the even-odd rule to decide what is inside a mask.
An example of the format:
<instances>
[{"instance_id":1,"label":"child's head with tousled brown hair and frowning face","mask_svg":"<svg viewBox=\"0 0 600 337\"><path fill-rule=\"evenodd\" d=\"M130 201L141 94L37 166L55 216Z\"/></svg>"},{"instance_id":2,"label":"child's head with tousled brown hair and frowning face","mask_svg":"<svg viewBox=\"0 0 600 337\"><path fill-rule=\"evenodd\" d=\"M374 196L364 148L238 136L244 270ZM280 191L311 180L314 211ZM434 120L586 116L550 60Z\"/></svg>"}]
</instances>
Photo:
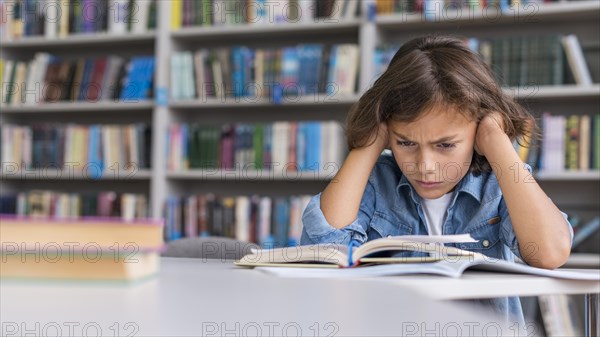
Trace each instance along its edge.
<instances>
[{"instance_id":1,"label":"child's head with tousled brown hair and frowning face","mask_svg":"<svg viewBox=\"0 0 600 337\"><path fill-rule=\"evenodd\" d=\"M489 66L464 40L420 37L402 45L353 107L347 121L348 147L369 145L379 123L387 122L390 148L403 173L421 196L438 197L469 170L491 170L473 146L477 123L495 111L503 116L511 139L533 131L532 116L502 91ZM447 136L456 137L442 139ZM400 141L402 137L407 139ZM447 183L418 184L441 180Z\"/></svg>"}]
</instances>

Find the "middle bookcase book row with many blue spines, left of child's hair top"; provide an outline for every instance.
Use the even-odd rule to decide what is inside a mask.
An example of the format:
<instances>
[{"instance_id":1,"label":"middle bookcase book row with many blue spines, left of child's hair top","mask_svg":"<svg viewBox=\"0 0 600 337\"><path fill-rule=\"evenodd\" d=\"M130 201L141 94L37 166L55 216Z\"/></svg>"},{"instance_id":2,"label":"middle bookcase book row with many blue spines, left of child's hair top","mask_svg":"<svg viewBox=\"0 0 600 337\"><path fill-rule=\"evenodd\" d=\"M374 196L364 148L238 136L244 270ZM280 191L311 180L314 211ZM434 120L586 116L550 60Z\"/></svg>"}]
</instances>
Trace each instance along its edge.
<instances>
[{"instance_id":1,"label":"middle bookcase book row with many blue spines, left of child's hair top","mask_svg":"<svg viewBox=\"0 0 600 337\"><path fill-rule=\"evenodd\" d=\"M350 96L356 92L356 44L300 44L282 48L229 48L174 52L171 97L227 97L294 102L300 96Z\"/></svg>"}]
</instances>

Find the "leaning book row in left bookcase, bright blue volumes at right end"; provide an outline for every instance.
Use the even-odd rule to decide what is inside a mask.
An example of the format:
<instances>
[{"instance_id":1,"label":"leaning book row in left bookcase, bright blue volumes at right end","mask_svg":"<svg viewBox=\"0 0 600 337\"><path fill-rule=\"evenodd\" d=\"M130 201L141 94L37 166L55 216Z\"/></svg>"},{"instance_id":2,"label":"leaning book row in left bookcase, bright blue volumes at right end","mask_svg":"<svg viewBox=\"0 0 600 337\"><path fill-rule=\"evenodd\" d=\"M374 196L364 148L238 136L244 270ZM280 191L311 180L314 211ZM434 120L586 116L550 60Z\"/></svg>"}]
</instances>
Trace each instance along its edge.
<instances>
[{"instance_id":1,"label":"leaning book row in left bookcase, bright blue volumes at right end","mask_svg":"<svg viewBox=\"0 0 600 337\"><path fill-rule=\"evenodd\" d=\"M31 61L0 58L2 104L138 102L151 98L154 56L63 59L46 52Z\"/></svg>"}]
</instances>

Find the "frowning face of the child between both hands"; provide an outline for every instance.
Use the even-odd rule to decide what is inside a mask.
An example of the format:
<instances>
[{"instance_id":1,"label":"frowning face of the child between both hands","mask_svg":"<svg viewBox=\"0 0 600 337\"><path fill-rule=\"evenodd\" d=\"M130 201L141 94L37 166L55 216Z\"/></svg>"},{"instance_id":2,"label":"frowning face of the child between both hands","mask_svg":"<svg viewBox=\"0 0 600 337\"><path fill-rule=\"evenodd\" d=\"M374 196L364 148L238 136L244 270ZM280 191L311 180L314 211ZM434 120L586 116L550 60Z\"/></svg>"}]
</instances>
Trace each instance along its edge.
<instances>
[{"instance_id":1,"label":"frowning face of the child between both hands","mask_svg":"<svg viewBox=\"0 0 600 337\"><path fill-rule=\"evenodd\" d=\"M416 121L390 121L390 146L402 173L426 199L452 191L469 172L477 123L454 110L432 109Z\"/></svg>"}]
</instances>

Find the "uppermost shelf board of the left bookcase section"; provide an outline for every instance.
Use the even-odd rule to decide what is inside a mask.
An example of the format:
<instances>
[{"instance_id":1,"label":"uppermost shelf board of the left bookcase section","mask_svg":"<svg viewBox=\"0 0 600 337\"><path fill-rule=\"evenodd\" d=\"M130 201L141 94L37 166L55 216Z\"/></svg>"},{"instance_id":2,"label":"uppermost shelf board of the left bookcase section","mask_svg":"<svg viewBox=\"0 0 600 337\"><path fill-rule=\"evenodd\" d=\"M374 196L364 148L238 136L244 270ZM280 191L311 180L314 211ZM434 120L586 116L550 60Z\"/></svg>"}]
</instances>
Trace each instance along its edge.
<instances>
[{"instance_id":1,"label":"uppermost shelf board of the left bookcase section","mask_svg":"<svg viewBox=\"0 0 600 337\"><path fill-rule=\"evenodd\" d=\"M150 43L156 39L156 32L139 34L112 35L108 33L72 34L64 38L47 39L43 36L23 37L12 41L3 41L3 49L13 48L52 48L52 47L97 47L130 43Z\"/></svg>"}]
</instances>

